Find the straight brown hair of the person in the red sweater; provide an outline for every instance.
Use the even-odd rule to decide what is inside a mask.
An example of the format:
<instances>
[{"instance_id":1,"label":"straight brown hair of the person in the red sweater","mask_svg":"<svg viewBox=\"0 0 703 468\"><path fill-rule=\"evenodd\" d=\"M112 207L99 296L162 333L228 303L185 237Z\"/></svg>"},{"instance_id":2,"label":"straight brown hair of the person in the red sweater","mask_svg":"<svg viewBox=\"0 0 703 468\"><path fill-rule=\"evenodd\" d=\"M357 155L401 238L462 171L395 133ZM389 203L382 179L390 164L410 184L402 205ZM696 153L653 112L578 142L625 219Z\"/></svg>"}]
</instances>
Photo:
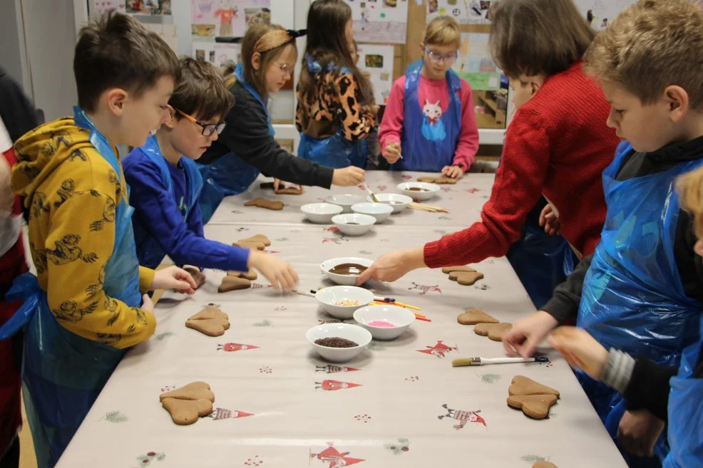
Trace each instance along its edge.
<instances>
[{"instance_id":1,"label":"straight brown hair of the person in the red sweater","mask_svg":"<svg viewBox=\"0 0 703 468\"><path fill-rule=\"evenodd\" d=\"M594 36L573 0L501 0L491 6L491 55L510 78L568 70Z\"/></svg>"}]
</instances>

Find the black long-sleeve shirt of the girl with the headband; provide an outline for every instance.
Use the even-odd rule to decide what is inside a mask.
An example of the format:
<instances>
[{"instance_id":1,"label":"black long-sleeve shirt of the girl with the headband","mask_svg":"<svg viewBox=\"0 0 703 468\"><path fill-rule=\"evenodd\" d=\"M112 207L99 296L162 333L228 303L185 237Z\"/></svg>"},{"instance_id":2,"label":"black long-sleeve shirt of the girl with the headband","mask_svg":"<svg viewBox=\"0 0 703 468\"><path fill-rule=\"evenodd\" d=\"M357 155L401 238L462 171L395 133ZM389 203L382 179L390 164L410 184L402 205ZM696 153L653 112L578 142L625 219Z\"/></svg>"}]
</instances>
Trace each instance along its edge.
<instances>
[{"instance_id":1,"label":"black long-sleeve shirt of the girl with the headband","mask_svg":"<svg viewBox=\"0 0 703 468\"><path fill-rule=\"evenodd\" d=\"M233 152L234 156L227 157L239 157L265 175L294 184L326 189L332 186L331 167L295 157L280 147L269 134L266 111L257 98L240 83L235 83L230 91L235 105L225 118L227 127L197 162L211 164Z\"/></svg>"}]
</instances>

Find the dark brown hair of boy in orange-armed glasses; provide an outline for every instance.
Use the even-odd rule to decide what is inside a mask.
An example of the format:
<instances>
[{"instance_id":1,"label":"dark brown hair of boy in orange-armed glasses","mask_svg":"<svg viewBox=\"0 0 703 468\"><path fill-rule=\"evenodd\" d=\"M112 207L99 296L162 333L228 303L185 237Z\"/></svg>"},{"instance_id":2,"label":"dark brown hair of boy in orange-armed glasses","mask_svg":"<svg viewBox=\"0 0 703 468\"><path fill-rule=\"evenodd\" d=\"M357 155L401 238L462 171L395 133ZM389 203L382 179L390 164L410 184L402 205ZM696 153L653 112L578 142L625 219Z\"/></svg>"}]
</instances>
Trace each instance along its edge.
<instances>
[{"instance_id":1,"label":"dark brown hair of boy in orange-armed glasses","mask_svg":"<svg viewBox=\"0 0 703 468\"><path fill-rule=\"evenodd\" d=\"M180 59L180 83L168 100L171 107L197 115L199 120L224 120L234 102L215 66L190 57ZM178 119L181 115L177 112L175 117Z\"/></svg>"}]
</instances>

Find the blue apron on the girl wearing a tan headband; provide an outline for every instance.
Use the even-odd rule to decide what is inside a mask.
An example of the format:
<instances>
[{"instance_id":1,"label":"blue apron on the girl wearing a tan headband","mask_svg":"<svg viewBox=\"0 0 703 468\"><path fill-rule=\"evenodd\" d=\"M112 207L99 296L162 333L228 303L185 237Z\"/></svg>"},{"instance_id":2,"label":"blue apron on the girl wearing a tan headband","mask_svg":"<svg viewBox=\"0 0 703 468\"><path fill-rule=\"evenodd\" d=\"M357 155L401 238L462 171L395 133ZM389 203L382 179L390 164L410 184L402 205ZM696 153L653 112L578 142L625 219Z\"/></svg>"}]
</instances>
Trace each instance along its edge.
<instances>
[{"instance_id":1,"label":"blue apron on the girl wearing a tan headband","mask_svg":"<svg viewBox=\"0 0 703 468\"><path fill-rule=\"evenodd\" d=\"M273 125L271 125L271 116L266 107L268 98L266 101L262 100L261 96L252 85L247 83L241 63L235 68L235 75L237 76L237 82L240 83L245 90L249 91L249 93L259 101L262 108L264 108L266 120L269 123L269 135L273 135L274 131ZM210 221L212 214L215 213L217 207L220 206L223 198L244 192L254 183L256 178L259 177L259 170L256 167L247 164L247 162L244 162L232 152L227 153L211 164L198 165L198 168L200 169L200 175L202 175L203 181L202 194L200 194L202 224L207 224L207 222Z\"/></svg>"}]
</instances>

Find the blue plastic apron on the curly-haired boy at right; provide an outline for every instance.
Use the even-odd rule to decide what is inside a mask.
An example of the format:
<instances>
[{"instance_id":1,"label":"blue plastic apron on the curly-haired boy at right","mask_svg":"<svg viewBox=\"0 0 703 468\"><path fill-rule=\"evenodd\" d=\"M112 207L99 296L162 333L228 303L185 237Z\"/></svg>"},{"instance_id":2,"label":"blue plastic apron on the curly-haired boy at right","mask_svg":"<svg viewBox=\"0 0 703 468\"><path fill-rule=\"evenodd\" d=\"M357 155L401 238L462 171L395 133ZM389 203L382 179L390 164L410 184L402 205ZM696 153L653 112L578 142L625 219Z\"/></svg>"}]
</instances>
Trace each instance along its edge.
<instances>
[{"instance_id":1,"label":"blue plastic apron on the curly-haired boy at right","mask_svg":"<svg viewBox=\"0 0 703 468\"><path fill-rule=\"evenodd\" d=\"M583 281L578 326L606 349L678 366L682 350L697 341L703 305L686 296L674 259L680 211L674 182L703 160L618 182L617 171L631 151L630 144L622 143L603 172L607 217ZM626 410L622 396L585 373L578 377L615 440ZM668 452L665 440L664 433L655 447L660 459ZM631 466L644 466L623 455Z\"/></svg>"}]
</instances>

